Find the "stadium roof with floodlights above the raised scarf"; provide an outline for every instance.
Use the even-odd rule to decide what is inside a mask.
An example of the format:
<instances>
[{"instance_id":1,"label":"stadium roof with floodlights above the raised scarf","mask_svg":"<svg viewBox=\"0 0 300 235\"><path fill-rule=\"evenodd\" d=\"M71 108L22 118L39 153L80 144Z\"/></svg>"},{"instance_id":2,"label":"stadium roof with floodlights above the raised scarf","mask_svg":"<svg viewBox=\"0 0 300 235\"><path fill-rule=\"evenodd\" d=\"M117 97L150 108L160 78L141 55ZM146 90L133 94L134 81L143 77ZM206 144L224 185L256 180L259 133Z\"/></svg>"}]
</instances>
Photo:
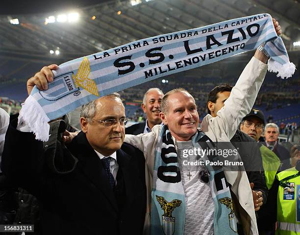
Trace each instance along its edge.
<instances>
[{"instance_id":1,"label":"stadium roof with floodlights above the raised scarf","mask_svg":"<svg viewBox=\"0 0 300 235\"><path fill-rule=\"evenodd\" d=\"M48 14L0 15L0 55L64 60L151 36L269 13L282 27L288 50L300 41L298 0L112 0L77 10L77 22L46 24ZM67 13L66 13L67 14ZM19 24L10 21L18 19ZM300 48L300 47L298 47Z\"/></svg>"}]
</instances>

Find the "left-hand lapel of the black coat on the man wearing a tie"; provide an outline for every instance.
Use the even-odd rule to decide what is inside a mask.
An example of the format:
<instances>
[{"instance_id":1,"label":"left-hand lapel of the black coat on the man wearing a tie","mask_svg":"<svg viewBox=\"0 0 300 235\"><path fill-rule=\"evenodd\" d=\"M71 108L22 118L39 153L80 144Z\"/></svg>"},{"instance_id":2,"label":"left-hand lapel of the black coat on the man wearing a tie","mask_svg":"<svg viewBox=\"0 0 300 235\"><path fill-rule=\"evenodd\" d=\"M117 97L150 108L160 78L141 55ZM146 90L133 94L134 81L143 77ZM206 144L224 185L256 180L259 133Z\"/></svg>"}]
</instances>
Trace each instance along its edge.
<instances>
[{"instance_id":1,"label":"left-hand lapel of the black coat on the man wearing a tie","mask_svg":"<svg viewBox=\"0 0 300 235\"><path fill-rule=\"evenodd\" d=\"M112 207L118 211L115 195L111 189L102 162L95 150L89 144L82 131L72 141L75 146L74 155L81 161L84 175L104 194ZM72 147L71 147L72 148Z\"/></svg>"}]
</instances>

